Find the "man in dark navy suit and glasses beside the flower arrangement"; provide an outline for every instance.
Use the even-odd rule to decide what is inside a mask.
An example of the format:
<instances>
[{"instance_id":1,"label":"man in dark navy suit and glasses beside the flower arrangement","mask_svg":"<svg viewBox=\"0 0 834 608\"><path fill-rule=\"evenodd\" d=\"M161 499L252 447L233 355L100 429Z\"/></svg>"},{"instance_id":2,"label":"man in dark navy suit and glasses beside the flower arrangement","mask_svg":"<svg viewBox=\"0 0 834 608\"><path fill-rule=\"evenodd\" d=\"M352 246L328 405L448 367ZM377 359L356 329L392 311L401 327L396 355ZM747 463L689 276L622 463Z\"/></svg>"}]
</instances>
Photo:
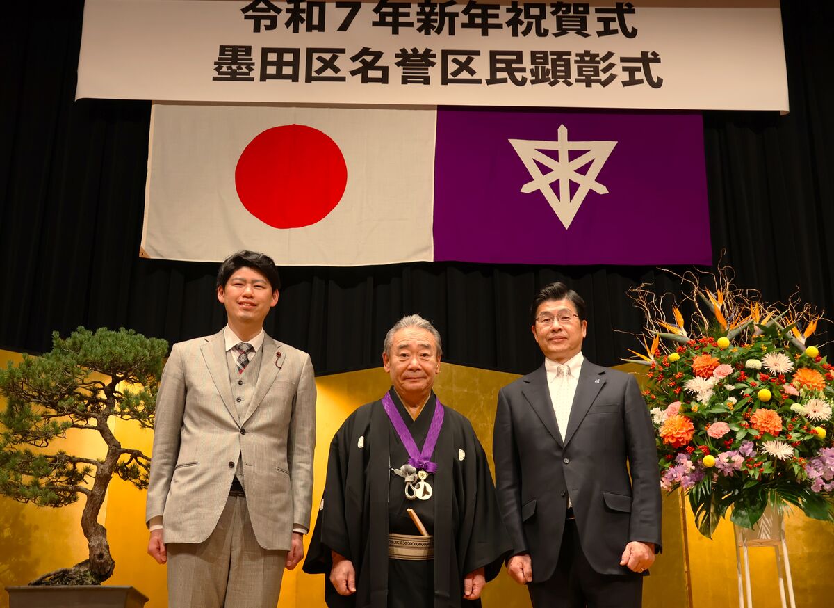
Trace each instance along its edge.
<instances>
[{"instance_id":1,"label":"man in dark navy suit and glasses beside the flower arrangement","mask_svg":"<svg viewBox=\"0 0 834 608\"><path fill-rule=\"evenodd\" d=\"M639 608L661 545L655 433L629 374L582 356L585 301L563 283L533 300L545 363L502 388L493 453L510 576L535 608Z\"/></svg>"}]
</instances>

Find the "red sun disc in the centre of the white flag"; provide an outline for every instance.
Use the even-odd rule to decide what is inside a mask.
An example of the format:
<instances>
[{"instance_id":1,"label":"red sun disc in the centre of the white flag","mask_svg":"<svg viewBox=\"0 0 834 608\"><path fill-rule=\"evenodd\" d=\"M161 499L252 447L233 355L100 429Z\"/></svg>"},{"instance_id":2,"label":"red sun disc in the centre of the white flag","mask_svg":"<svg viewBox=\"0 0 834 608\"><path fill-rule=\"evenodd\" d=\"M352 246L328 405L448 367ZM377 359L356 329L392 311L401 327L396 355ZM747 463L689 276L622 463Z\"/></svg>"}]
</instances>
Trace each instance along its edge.
<instances>
[{"instance_id":1,"label":"red sun disc in the centre of the white flag","mask_svg":"<svg viewBox=\"0 0 834 608\"><path fill-rule=\"evenodd\" d=\"M257 134L234 170L240 202L274 228L301 228L324 219L339 204L347 182L339 146L304 124Z\"/></svg>"}]
</instances>

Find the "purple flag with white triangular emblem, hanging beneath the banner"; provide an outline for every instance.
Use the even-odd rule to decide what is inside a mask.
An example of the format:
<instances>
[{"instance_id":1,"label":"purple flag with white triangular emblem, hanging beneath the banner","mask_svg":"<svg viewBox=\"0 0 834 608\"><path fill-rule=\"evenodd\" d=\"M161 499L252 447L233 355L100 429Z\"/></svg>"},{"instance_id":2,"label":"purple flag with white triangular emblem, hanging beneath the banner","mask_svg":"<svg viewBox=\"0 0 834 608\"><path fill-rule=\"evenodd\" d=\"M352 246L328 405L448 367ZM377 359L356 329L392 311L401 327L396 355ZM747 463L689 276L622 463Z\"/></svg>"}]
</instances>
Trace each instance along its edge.
<instances>
[{"instance_id":1,"label":"purple flag with white triangular emblem, hanging beneath the banner","mask_svg":"<svg viewBox=\"0 0 834 608\"><path fill-rule=\"evenodd\" d=\"M701 114L442 108L435 261L711 264Z\"/></svg>"}]
</instances>

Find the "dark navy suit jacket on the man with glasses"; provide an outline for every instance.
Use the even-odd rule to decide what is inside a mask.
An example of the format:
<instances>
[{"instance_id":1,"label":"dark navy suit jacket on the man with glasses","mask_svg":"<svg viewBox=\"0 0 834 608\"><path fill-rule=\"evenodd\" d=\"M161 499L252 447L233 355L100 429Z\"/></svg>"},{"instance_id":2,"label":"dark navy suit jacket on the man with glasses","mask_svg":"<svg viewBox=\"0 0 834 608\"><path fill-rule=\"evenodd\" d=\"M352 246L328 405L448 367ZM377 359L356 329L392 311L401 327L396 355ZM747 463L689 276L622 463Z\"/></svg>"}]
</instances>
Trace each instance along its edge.
<instances>
[{"instance_id":1,"label":"dark navy suit jacket on the man with glasses","mask_svg":"<svg viewBox=\"0 0 834 608\"><path fill-rule=\"evenodd\" d=\"M513 553L530 554L535 582L553 575L570 492L591 567L629 573L620 566L629 541L661 545L655 433L635 378L585 359L563 433L544 366L500 390L495 486Z\"/></svg>"}]
</instances>

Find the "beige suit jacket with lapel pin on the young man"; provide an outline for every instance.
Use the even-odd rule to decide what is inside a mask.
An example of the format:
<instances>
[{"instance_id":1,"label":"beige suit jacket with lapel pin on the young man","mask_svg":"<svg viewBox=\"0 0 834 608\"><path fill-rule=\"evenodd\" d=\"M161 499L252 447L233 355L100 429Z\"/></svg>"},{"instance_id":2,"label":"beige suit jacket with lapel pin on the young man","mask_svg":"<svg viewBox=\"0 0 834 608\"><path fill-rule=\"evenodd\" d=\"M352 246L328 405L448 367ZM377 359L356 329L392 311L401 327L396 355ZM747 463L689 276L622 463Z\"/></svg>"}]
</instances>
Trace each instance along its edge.
<instances>
[{"instance_id":1,"label":"beige suit jacket with lapel pin on the young man","mask_svg":"<svg viewBox=\"0 0 834 608\"><path fill-rule=\"evenodd\" d=\"M173 345L159 386L147 522L163 515L166 543L200 543L220 518L238 460L264 549L289 550L309 528L315 383L306 352L264 336L254 398L239 418L223 332Z\"/></svg>"}]
</instances>

